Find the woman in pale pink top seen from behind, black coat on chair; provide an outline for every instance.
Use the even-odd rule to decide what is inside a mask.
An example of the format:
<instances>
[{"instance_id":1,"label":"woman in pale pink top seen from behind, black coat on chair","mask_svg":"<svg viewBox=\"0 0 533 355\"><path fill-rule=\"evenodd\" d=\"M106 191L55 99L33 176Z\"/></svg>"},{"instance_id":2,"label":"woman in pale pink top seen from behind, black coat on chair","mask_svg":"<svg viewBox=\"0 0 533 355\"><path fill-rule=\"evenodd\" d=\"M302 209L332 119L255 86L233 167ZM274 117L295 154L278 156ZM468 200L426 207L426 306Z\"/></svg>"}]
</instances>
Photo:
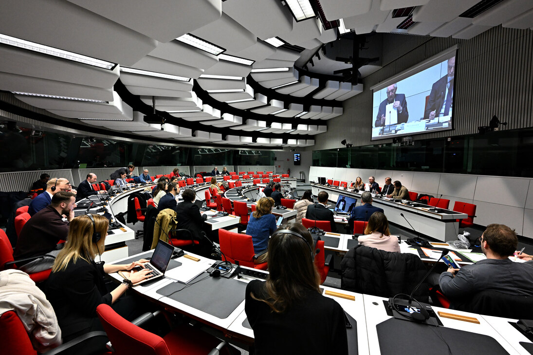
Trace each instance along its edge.
<instances>
[{"instance_id":1,"label":"woman in pale pink top seen from behind, black coat on chair","mask_svg":"<svg viewBox=\"0 0 533 355\"><path fill-rule=\"evenodd\" d=\"M374 212L368 219L365 235L357 239L359 244L384 251L400 252L398 236L389 232L389 221L382 212Z\"/></svg>"}]
</instances>

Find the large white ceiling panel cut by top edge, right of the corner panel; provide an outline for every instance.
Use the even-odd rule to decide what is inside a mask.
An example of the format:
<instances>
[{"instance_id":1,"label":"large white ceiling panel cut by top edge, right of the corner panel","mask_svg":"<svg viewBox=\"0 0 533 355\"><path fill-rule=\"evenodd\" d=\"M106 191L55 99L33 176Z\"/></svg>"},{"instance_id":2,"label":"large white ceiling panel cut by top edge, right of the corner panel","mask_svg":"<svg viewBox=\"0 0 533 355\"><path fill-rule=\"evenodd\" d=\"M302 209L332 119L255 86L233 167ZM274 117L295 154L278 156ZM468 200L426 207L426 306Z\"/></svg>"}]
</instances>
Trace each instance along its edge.
<instances>
[{"instance_id":1,"label":"large white ceiling panel cut by top edge, right of the corner panel","mask_svg":"<svg viewBox=\"0 0 533 355\"><path fill-rule=\"evenodd\" d=\"M220 0L68 0L104 18L122 24L160 42L169 42L204 24L216 21L222 12ZM127 9L127 11L125 11ZM147 19L147 14L150 19ZM180 20L176 21L176 14Z\"/></svg>"}]
</instances>

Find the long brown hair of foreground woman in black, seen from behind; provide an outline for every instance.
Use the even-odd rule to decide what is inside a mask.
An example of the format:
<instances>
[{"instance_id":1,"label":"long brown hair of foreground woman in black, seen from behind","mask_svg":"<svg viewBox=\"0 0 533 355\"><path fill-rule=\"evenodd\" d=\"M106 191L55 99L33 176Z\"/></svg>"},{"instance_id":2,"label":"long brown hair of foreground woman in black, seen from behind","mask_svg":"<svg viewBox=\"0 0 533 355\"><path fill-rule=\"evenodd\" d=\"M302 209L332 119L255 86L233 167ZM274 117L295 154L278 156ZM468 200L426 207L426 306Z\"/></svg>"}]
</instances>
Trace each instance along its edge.
<instances>
[{"instance_id":1,"label":"long brown hair of foreground woman in black, seen from behind","mask_svg":"<svg viewBox=\"0 0 533 355\"><path fill-rule=\"evenodd\" d=\"M279 233L270 238L268 245L269 276L266 279L266 299L252 294L252 298L265 302L273 312L282 313L301 300L305 291L320 293L320 275L314 265L313 238L300 223L282 225L305 238Z\"/></svg>"}]
</instances>

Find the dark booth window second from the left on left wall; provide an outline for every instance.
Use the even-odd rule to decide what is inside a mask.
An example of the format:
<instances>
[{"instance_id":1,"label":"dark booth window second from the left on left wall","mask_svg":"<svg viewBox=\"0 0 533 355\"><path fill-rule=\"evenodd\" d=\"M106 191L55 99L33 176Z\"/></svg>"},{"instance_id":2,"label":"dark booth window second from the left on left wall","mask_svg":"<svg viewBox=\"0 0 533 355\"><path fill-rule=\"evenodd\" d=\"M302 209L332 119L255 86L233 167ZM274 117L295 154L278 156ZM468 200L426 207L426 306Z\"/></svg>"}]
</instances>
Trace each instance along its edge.
<instances>
[{"instance_id":1,"label":"dark booth window second from the left on left wall","mask_svg":"<svg viewBox=\"0 0 533 355\"><path fill-rule=\"evenodd\" d=\"M84 137L78 151L79 166L85 168L124 166L132 161L132 148L133 143Z\"/></svg>"}]
</instances>

